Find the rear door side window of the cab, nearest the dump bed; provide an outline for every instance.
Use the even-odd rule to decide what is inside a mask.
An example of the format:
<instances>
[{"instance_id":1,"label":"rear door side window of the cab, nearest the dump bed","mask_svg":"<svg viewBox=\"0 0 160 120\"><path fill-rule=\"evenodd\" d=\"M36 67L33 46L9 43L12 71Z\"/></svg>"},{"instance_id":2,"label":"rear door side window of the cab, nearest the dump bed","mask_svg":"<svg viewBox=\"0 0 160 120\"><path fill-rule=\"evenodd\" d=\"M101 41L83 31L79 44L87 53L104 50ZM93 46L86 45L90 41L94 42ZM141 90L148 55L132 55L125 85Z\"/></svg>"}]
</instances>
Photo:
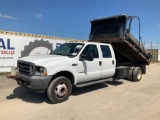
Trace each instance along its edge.
<instances>
[{"instance_id":1,"label":"rear door side window of the cab, nearest the dump bed","mask_svg":"<svg viewBox=\"0 0 160 120\"><path fill-rule=\"evenodd\" d=\"M110 50L109 46L101 45L101 50L102 50L103 58L111 58L112 57L111 50Z\"/></svg>"}]
</instances>

